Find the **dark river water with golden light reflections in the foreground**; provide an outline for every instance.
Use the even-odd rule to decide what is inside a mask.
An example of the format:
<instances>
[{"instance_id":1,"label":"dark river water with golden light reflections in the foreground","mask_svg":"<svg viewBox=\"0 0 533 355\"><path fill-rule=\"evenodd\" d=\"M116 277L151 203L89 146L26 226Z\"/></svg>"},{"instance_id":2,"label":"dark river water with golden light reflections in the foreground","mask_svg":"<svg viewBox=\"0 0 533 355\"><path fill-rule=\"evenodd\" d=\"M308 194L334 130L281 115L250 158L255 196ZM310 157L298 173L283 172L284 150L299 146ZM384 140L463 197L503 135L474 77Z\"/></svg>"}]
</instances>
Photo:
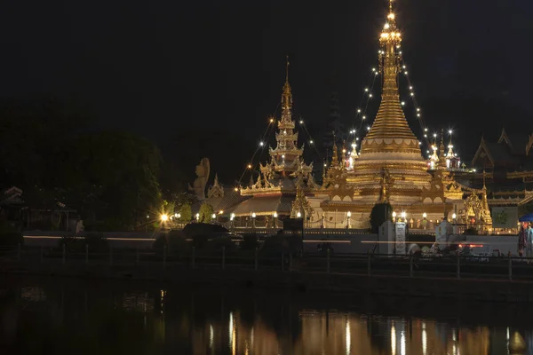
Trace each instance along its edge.
<instances>
[{"instance_id":1,"label":"dark river water with golden light reflections in the foreground","mask_svg":"<svg viewBox=\"0 0 533 355\"><path fill-rule=\"evenodd\" d=\"M4 353L533 354L529 306L0 278Z\"/></svg>"}]
</instances>

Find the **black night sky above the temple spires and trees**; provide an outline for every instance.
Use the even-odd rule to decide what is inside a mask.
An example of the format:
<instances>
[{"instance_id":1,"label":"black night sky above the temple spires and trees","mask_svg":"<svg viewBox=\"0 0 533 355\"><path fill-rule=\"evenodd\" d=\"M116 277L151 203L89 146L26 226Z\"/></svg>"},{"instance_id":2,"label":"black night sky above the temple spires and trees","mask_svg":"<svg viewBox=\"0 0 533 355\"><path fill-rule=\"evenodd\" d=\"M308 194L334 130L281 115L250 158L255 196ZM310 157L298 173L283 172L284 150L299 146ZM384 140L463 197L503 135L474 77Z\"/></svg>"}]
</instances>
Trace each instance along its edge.
<instances>
[{"instance_id":1,"label":"black night sky above the temple spires and trees","mask_svg":"<svg viewBox=\"0 0 533 355\"><path fill-rule=\"evenodd\" d=\"M465 154L504 122L533 131L533 3L397 6L404 59L429 127L453 127ZM332 91L346 125L353 122L386 12L386 0L4 2L0 96L76 100L98 127L153 139L191 171L188 164L206 155L230 180L278 105L286 54L294 111L309 130L321 129ZM406 107L413 123L411 113Z\"/></svg>"}]
</instances>

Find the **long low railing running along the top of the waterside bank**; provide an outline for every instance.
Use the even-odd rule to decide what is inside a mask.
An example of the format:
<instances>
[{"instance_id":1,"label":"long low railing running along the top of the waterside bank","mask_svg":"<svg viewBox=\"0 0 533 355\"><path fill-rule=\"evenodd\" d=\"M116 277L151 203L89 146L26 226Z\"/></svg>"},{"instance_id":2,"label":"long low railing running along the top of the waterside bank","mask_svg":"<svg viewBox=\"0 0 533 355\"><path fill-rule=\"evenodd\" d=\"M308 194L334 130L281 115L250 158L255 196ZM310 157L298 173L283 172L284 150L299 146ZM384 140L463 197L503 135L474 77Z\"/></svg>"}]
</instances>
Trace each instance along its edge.
<instances>
[{"instance_id":1,"label":"long low railing running along the top of the waterside bank","mask_svg":"<svg viewBox=\"0 0 533 355\"><path fill-rule=\"evenodd\" d=\"M114 250L91 252L68 251L67 248L21 248L0 247L0 270L9 270L16 264L18 269L40 270L45 265L72 268L122 266L175 269L222 269L234 271L277 271L307 273L337 273L366 275L369 277L409 277L457 280L521 280L533 282L533 259L513 256L390 256L380 254L332 254L322 253L267 252L265 250L200 250L187 251ZM157 269L161 270L161 269Z\"/></svg>"}]
</instances>

